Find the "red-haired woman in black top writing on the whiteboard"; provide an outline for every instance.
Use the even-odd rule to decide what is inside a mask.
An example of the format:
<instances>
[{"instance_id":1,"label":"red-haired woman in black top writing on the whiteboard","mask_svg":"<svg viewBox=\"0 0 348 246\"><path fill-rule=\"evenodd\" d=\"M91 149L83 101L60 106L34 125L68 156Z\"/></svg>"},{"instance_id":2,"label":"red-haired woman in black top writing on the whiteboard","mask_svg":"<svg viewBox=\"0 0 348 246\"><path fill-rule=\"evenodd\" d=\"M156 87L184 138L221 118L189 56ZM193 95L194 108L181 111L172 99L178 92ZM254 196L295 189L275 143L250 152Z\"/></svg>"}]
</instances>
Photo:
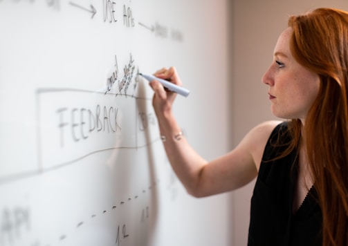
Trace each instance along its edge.
<instances>
[{"instance_id":1,"label":"red-haired woman in black top writing on the whiteboard","mask_svg":"<svg viewBox=\"0 0 348 246\"><path fill-rule=\"evenodd\" d=\"M181 85L175 68L155 75ZM207 162L181 134L175 93L152 81L154 110L178 178L196 197L257 177L248 245L348 245L348 13L319 8L289 19L262 77L286 122L255 126Z\"/></svg>"}]
</instances>

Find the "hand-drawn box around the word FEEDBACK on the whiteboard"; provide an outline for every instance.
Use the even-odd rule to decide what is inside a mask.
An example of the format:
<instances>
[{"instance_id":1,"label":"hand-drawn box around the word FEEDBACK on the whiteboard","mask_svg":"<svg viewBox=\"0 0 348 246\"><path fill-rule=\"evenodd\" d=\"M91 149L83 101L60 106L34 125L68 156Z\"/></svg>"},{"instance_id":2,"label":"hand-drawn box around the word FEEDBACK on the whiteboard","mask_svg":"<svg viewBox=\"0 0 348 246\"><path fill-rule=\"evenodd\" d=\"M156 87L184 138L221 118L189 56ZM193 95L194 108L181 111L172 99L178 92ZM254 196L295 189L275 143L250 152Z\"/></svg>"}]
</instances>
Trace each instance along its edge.
<instances>
[{"instance_id":1,"label":"hand-drawn box around the word FEEDBACK on the whiteboard","mask_svg":"<svg viewBox=\"0 0 348 246\"><path fill-rule=\"evenodd\" d=\"M138 138L143 128L138 126L140 115L136 97L74 89L38 90L40 169L61 167L100 151L146 144L147 140Z\"/></svg>"}]
</instances>

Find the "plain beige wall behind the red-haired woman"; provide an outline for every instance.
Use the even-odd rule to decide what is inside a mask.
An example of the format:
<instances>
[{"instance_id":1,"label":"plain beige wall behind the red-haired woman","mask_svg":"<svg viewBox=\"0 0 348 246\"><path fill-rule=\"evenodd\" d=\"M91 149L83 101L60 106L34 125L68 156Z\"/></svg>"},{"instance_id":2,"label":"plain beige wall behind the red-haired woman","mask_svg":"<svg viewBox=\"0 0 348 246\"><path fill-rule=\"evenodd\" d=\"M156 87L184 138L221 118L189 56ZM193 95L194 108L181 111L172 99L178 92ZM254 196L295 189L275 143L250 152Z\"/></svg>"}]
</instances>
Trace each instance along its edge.
<instances>
[{"instance_id":1,"label":"plain beige wall behind the red-haired woman","mask_svg":"<svg viewBox=\"0 0 348 246\"><path fill-rule=\"evenodd\" d=\"M338 0L234 0L232 19L232 142L235 146L256 124L273 119L268 88L261 77L271 64L278 35L287 26L289 15L318 7L348 10L347 1ZM235 246L247 243L250 198L254 182L234 191L233 215Z\"/></svg>"}]
</instances>

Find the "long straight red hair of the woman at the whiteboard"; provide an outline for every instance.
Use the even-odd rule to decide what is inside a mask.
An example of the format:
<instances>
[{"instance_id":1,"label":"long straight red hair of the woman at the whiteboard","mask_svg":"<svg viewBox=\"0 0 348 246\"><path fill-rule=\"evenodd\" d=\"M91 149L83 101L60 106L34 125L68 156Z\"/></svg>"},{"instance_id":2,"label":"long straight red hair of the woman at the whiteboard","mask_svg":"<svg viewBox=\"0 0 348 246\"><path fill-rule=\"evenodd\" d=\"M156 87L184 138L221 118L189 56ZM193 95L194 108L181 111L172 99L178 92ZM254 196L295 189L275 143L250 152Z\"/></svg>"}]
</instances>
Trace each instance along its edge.
<instances>
[{"instance_id":1,"label":"long straight red hair of the woman at the whiteboard","mask_svg":"<svg viewBox=\"0 0 348 246\"><path fill-rule=\"evenodd\" d=\"M289 26L293 57L320 76L304 128L297 119L289 124L291 149L304 138L322 209L323 245L348 245L348 12L318 8L290 17Z\"/></svg>"}]
</instances>

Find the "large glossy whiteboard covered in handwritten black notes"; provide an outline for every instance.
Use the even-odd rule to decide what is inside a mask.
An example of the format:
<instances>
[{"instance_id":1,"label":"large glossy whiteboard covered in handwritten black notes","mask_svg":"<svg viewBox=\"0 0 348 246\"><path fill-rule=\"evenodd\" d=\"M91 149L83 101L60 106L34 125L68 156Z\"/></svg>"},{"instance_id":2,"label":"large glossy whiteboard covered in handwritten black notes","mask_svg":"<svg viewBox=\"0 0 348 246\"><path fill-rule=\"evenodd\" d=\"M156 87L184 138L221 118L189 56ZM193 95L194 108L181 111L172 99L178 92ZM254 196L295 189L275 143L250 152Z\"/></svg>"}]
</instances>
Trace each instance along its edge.
<instances>
[{"instance_id":1,"label":"large glossy whiteboard covered in handwritten black notes","mask_svg":"<svg viewBox=\"0 0 348 246\"><path fill-rule=\"evenodd\" d=\"M137 73L176 66L174 111L228 150L226 1L0 1L0 245L228 245L228 196L187 195Z\"/></svg>"}]
</instances>

